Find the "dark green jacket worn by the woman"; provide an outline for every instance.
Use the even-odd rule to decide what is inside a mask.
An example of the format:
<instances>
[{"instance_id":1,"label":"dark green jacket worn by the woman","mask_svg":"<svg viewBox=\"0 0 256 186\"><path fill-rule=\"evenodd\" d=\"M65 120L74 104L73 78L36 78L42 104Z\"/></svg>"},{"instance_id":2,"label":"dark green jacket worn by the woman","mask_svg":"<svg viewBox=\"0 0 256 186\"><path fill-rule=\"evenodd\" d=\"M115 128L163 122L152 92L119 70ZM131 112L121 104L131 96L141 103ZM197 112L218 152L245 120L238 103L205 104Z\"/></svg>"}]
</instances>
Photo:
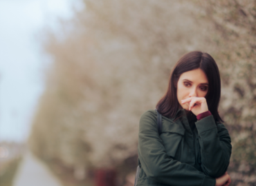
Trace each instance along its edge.
<instances>
[{"instance_id":1,"label":"dark green jacket worn by the woman","mask_svg":"<svg viewBox=\"0 0 256 186\"><path fill-rule=\"evenodd\" d=\"M185 114L185 110L177 114ZM200 121L194 114L173 120L162 116L159 136L156 111L148 110L140 117L137 186L214 186L215 178L229 165L232 146L228 130L212 115Z\"/></svg>"}]
</instances>

